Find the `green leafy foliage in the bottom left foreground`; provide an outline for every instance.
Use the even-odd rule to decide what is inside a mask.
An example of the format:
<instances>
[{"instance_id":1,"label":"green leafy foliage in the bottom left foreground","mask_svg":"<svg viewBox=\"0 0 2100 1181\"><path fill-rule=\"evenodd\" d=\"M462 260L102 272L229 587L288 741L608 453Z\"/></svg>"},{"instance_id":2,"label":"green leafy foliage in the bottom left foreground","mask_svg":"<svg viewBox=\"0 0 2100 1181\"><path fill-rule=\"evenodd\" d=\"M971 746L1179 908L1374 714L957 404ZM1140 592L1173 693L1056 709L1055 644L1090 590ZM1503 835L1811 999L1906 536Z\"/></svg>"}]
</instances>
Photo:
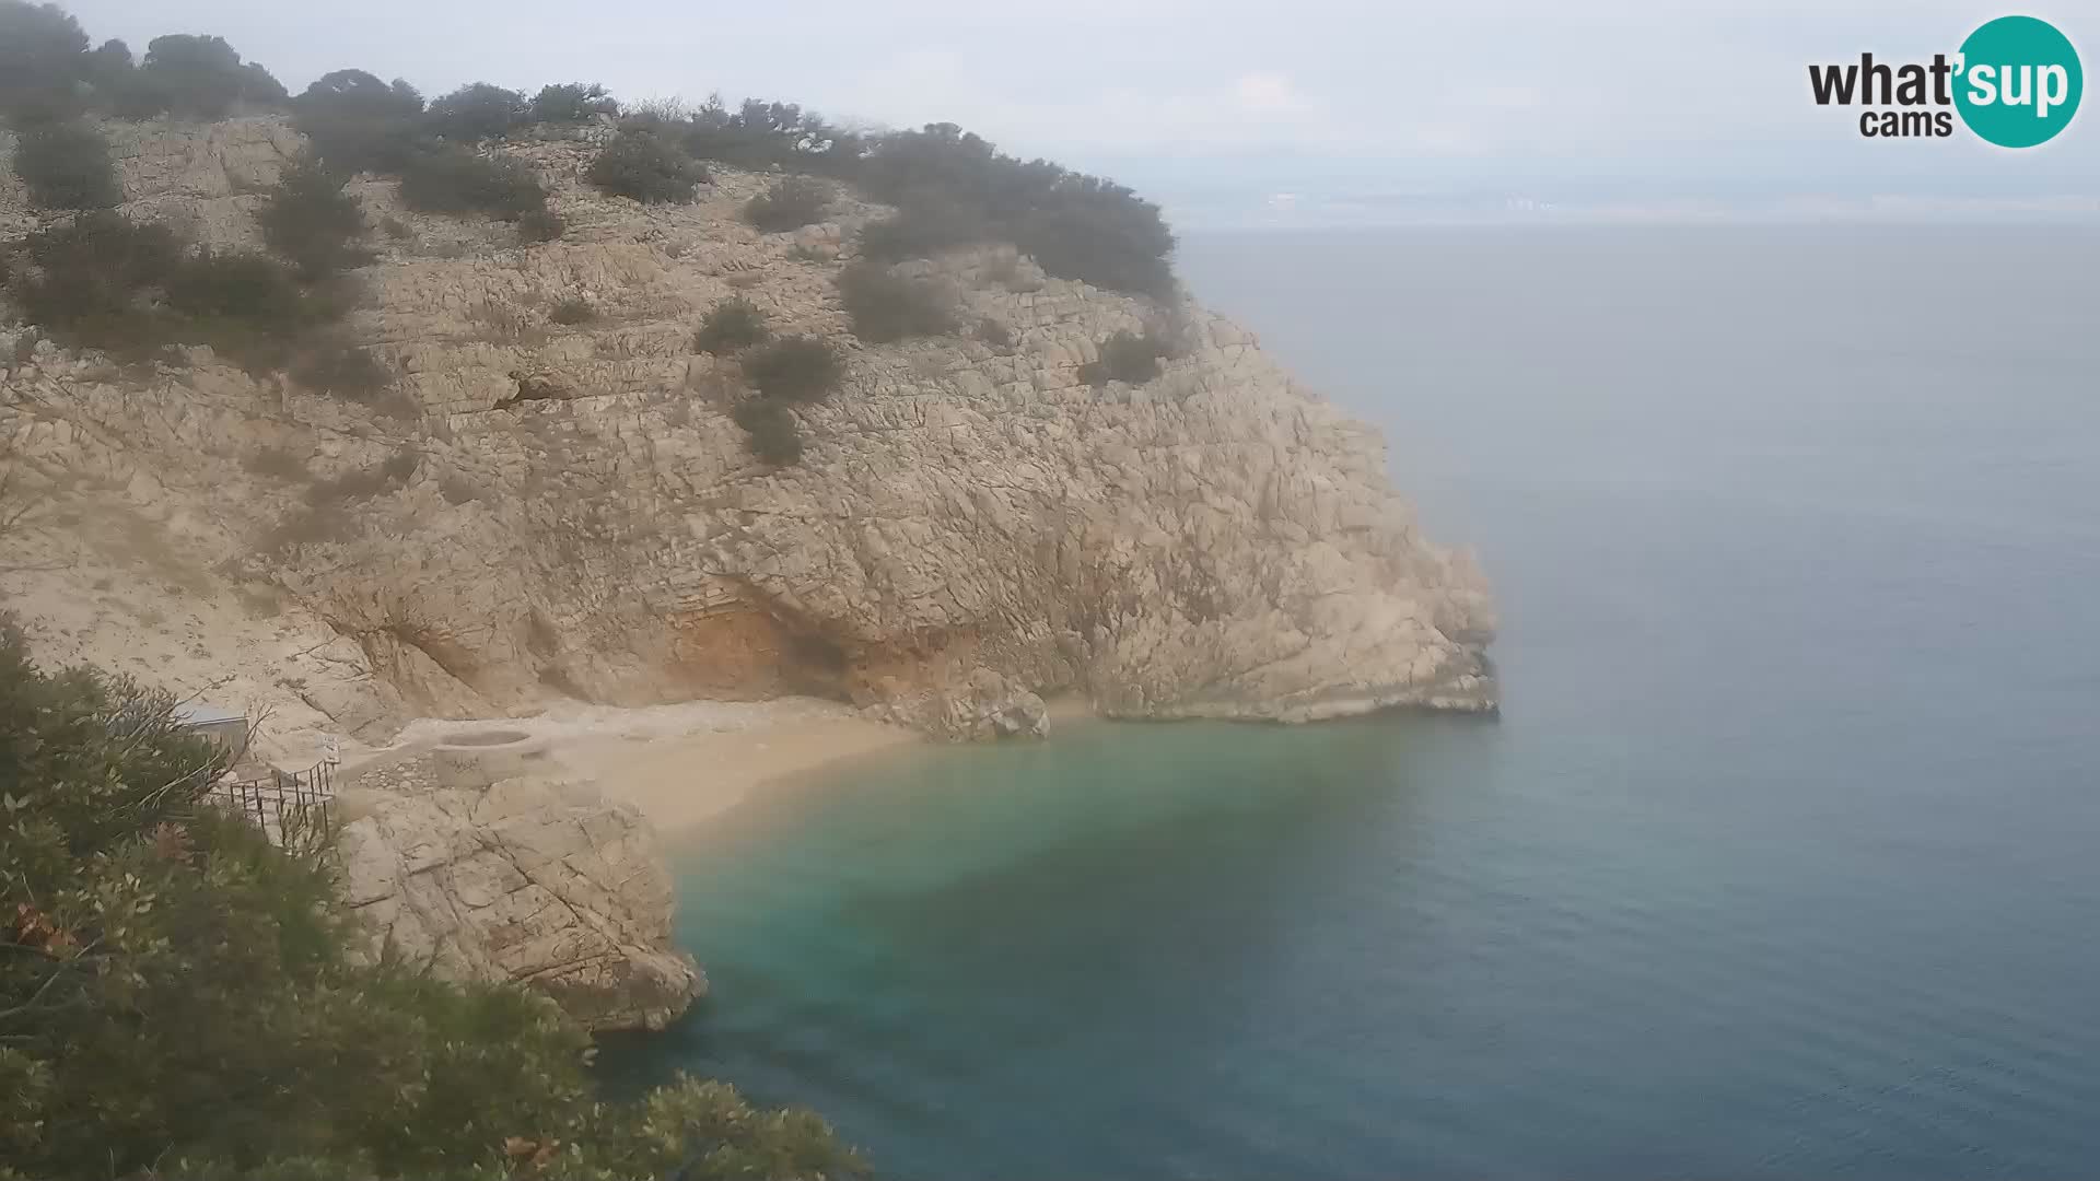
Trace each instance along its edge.
<instances>
[{"instance_id":1,"label":"green leafy foliage in the bottom left foreground","mask_svg":"<svg viewBox=\"0 0 2100 1181\"><path fill-rule=\"evenodd\" d=\"M355 962L326 857L212 809L170 710L0 622L0 1177L863 1173L722 1084L596 1103L542 998Z\"/></svg>"}]
</instances>

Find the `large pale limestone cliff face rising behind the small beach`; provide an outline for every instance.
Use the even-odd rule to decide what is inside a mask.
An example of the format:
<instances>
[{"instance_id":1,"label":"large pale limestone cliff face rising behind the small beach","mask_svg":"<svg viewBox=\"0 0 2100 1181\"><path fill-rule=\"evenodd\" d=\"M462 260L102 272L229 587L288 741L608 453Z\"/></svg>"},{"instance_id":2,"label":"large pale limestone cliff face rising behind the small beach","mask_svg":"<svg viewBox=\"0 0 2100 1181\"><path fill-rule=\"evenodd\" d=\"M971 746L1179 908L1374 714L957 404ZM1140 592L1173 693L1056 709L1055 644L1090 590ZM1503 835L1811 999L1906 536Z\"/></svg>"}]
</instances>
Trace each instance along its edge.
<instances>
[{"instance_id":1,"label":"large pale limestone cliff face rising behind the small beach","mask_svg":"<svg viewBox=\"0 0 2100 1181\"><path fill-rule=\"evenodd\" d=\"M298 147L271 118L109 134L126 212L214 246L254 244ZM48 498L0 578L44 651L210 685L294 735L550 696L815 691L953 738L1025 729L1050 691L1126 717L1495 704L1478 572L1420 534L1378 433L1247 332L1004 248L911 267L1010 343L859 345L834 279L880 206L758 233L737 210L766 179L716 170L697 204L645 208L580 181L586 139L510 149L569 225L542 246L353 183L384 225L353 317L397 374L380 408L202 349L120 370L0 328L0 439ZM844 389L798 408L798 467L746 452L733 361L693 351L731 294L848 349ZM554 319L578 301L588 319ZM1086 385L1126 328L1178 355Z\"/></svg>"}]
</instances>

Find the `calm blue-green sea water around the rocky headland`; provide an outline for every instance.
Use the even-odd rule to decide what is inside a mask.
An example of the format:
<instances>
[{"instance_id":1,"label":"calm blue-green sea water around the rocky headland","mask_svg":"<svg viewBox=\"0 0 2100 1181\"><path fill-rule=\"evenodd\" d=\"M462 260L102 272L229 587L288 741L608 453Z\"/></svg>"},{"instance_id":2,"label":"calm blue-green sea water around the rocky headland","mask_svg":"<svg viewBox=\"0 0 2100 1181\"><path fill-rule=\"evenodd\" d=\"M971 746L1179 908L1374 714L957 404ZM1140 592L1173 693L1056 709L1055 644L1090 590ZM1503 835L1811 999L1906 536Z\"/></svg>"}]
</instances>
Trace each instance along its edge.
<instances>
[{"instance_id":1,"label":"calm blue-green sea water around the rocky headland","mask_svg":"<svg viewBox=\"0 0 2100 1181\"><path fill-rule=\"evenodd\" d=\"M746 807L640 1049L899 1177L2100 1175L2100 237L1182 267L1497 582L1499 723L1090 725Z\"/></svg>"}]
</instances>

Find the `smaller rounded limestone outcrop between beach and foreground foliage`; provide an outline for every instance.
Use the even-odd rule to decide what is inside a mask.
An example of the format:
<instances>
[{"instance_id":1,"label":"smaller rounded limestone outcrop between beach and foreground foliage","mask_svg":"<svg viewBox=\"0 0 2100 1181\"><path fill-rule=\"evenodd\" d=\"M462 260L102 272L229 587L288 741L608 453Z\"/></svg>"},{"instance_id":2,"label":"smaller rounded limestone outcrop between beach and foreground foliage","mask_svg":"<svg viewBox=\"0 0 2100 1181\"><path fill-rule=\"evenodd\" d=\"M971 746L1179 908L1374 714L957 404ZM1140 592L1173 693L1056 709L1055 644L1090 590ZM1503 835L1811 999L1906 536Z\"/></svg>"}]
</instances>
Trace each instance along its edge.
<instances>
[{"instance_id":1,"label":"smaller rounded limestone outcrop between beach and foreground foliage","mask_svg":"<svg viewBox=\"0 0 2100 1181\"><path fill-rule=\"evenodd\" d=\"M338 801L342 893L374 952L521 983L590 1030L662 1030L706 992L670 948L672 883L640 813L590 784L447 757L365 773Z\"/></svg>"}]
</instances>

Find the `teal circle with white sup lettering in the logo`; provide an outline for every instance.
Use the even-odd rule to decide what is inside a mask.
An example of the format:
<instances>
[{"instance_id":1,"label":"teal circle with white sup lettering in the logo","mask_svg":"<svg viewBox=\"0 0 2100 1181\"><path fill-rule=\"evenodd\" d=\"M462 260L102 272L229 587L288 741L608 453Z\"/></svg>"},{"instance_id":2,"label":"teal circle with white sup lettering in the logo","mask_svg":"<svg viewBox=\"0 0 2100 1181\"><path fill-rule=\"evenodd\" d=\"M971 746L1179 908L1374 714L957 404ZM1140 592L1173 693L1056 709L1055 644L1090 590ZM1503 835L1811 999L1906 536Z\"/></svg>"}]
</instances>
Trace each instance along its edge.
<instances>
[{"instance_id":1,"label":"teal circle with white sup lettering in the logo","mask_svg":"<svg viewBox=\"0 0 2100 1181\"><path fill-rule=\"evenodd\" d=\"M2056 139L2085 95L2079 50L2056 25L2035 17L1999 17L1970 34L1957 69L1961 122L1999 147Z\"/></svg>"}]
</instances>

